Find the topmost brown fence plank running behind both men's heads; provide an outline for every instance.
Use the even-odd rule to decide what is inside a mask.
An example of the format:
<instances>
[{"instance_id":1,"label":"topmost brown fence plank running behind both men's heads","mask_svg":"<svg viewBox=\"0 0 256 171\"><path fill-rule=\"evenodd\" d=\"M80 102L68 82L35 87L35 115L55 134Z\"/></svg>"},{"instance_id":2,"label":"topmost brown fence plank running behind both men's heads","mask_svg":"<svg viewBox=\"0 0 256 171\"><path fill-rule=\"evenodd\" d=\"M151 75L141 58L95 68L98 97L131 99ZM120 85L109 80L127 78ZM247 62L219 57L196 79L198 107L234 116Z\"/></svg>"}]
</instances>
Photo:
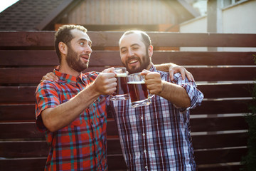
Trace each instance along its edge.
<instances>
[{"instance_id":1,"label":"topmost brown fence plank running behind both men's heads","mask_svg":"<svg viewBox=\"0 0 256 171\"><path fill-rule=\"evenodd\" d=\"M53 46L55 31L0 31L0 46ZM88 31L93 46L118 46L122 31ZM256 34L147 32L153 46L256 47Z\"/></svg>"}]
</instances>

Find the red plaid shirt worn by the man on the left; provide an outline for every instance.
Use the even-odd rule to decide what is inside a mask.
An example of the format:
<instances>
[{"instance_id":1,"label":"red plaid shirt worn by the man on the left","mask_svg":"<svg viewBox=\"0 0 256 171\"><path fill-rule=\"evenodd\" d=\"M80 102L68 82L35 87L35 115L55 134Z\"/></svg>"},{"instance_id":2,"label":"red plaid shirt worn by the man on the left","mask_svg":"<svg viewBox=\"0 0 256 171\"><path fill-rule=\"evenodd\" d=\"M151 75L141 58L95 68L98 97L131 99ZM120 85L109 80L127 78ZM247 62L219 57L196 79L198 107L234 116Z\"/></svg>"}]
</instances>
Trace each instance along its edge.
<instances>
[{"instance_id":1,"label":"red plaid shirt worn by the man on the left","mask_svg":"<svg viewBox=\"0 0 256 171\"><path fill-rule=\"evenodd\" d=\"M54 71L59 81L43 81L36 89L36 125L45 131L49 145L45 170L107 170L106 98L101 95L70 125L51 133L43 125L41 112L73 98L98 73L81 73L78 78Z\"/></svg>"}]
</instances>

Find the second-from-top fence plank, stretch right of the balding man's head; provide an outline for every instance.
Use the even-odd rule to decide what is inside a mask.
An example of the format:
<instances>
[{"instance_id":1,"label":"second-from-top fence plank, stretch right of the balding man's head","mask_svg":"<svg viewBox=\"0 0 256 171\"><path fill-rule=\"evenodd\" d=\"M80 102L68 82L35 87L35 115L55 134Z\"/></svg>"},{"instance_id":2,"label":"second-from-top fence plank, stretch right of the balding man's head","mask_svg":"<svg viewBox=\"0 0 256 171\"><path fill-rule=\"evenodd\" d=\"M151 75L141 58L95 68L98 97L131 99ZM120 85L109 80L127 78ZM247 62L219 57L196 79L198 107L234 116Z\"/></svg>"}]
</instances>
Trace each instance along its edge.
<instances>
[{"instance_id":1,"label":"second-from-top fence plank, stretch right of the balding man's head","mask_svg":"<svg viewBox=\"0 0 256 171\"><path fill-rule=\"evenodd\" d=\"M253 54L255 52L154 51L152 62L171 62L181 66L254 65Z\"/></svg>"}]
</instances>

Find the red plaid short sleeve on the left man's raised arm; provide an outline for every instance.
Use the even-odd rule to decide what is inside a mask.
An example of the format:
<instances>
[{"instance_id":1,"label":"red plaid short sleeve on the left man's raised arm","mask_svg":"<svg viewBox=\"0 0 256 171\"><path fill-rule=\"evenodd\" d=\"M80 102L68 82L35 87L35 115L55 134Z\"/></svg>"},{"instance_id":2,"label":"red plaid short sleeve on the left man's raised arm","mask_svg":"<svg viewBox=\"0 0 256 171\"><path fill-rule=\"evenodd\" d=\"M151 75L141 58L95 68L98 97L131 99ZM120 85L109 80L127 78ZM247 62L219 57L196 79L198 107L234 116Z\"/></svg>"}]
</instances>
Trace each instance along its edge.
<instances>
[{"instance_id":1,"label":"red plaid short sleeve on the left man's raised arm","mask_svg":"<svg viewBox=\"0 0 256 171\"><path fill-rule=\"evenodd\" d=\"M41 118L41 112L46 108L55 108L60 105L58 91L52 82L43 81L36 88L36 125L38 130L45 131L46 127Z\"/></svg>"}]
</instances>

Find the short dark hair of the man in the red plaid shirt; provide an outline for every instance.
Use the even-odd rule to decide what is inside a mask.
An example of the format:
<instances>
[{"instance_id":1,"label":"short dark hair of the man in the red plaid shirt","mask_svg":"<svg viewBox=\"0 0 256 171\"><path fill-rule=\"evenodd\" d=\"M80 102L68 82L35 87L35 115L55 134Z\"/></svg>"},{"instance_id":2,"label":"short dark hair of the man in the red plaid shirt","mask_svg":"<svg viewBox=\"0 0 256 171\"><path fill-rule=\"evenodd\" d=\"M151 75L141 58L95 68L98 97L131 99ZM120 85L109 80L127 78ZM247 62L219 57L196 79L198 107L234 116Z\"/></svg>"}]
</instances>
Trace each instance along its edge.
<instances>
[{"instance_id":1,"label":"short dark hair of the man in the red plaid shirt","mask_svg":"<svg viewBox=\"0 0 256 171\"><path fill-rule=\"evenodd\" d=\"M61 55L60 55L60 49L58 48L58 44L60 42L65 43L67 46L69 46L70 41L74 38L71 30L78 29L82 32L87 32L87 29L84 26L79 25L63 25L61 26L58 31L55 33L55 40L54 40L54 46L55 51L57 53L59 62L61 62Z\"/></svg>"}]
</instances>

